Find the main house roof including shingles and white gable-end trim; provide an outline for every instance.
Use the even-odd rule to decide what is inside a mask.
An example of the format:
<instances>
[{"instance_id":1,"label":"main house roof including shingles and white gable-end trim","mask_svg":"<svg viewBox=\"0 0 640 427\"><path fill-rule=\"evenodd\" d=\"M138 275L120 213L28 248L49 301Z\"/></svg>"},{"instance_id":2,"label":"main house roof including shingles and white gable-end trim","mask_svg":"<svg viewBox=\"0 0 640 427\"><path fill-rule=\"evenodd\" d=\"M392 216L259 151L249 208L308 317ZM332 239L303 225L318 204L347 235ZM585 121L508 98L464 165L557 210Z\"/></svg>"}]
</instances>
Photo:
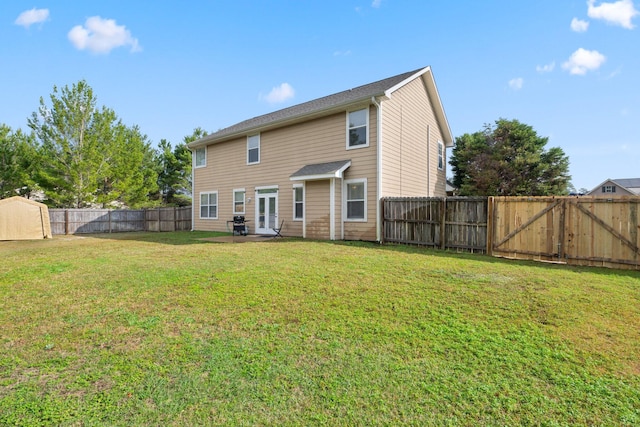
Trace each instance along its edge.
<instances>
[{"instance_id":1,"label":"main house roof including shingles and white gable-end trim","mask_svg":"<svg viewBox=\"0 0 640 427\"><path fill-rule=\"evenodd\" d=\"M397 89L421 76L424 76L427 92L431 102L433 103L444 142L447 146L452 146L453 136L440 101L440 96L438 95L431 67L419 68L417 70L398 74L397 76L389 77L377 82L358 86L323 98L314 99L312 101L274 111L273 113L254 117L207 135L204 138L190 143L188 146L192 149L198 148L235 138L243 134L260 132L296 121L323 116L334 111L337 112L351 104L369 101L374 97L390 98L393 92Z\"/></svg>"}]
</instances>

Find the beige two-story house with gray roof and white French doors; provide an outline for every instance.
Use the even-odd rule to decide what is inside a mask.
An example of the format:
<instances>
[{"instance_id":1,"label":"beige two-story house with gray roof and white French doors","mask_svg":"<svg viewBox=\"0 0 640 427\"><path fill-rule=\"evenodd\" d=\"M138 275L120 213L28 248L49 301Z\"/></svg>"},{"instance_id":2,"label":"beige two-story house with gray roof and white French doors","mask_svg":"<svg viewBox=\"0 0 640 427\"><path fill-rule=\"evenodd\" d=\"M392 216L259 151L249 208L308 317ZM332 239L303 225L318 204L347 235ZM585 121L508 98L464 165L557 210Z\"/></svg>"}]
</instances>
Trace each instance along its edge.
<instances>
[{"instance_id":1,"label":"beige two-story house with gray roof and white French doors","mask_svg":"<svg viewBox=\"0 0 640 427\"><path fill-rule=\"evenodd\" d=\"M380 240L380 199L445 196L453 137L430 67L254 117L189 144L193 229Z\"/></svg>"}]
</instances>

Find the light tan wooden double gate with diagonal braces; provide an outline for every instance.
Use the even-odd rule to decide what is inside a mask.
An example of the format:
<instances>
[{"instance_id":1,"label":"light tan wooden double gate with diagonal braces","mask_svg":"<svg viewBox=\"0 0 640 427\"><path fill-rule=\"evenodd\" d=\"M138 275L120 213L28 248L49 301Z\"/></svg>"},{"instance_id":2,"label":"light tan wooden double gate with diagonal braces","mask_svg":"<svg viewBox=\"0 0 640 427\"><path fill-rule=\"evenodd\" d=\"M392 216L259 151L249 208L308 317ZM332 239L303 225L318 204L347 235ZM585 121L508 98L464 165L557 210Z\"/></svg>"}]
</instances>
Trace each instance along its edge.
<instances>
[{"instance_id":1,"label":"light tan wooden double gate with diagonal braces","mask_svg":"<svg viewBox=\"0 0 640 427\"><path fill-rule=\"evenodd\" d=\"M493 255L639 268L640 198L492 197Z\"/></svg>"}]
</instances>

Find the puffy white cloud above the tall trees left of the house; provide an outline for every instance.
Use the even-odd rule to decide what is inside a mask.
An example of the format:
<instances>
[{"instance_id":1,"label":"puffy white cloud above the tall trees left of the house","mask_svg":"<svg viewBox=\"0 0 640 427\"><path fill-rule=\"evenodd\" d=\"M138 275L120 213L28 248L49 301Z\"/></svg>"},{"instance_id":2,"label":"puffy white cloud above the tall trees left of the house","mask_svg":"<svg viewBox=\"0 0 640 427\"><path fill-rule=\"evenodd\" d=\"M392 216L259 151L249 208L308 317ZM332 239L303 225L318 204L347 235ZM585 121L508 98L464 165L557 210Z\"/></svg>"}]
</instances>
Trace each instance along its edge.
<instances>
[{"instance_id":1,"label":"puffy white cloud above the tall trees left of the house","mask_svg":"<svg viewBox=\"0 0 640 427\"><path fill-rule=\"evenodd\" d=\"M121 46L131 46L131 52L142 50L138 39L131 37L131 32L124 25L99 16L88 18L84 26L76 25L67 37L77 49L88 49L93 53L109 53Z\"/></svg>"}]
</instances>

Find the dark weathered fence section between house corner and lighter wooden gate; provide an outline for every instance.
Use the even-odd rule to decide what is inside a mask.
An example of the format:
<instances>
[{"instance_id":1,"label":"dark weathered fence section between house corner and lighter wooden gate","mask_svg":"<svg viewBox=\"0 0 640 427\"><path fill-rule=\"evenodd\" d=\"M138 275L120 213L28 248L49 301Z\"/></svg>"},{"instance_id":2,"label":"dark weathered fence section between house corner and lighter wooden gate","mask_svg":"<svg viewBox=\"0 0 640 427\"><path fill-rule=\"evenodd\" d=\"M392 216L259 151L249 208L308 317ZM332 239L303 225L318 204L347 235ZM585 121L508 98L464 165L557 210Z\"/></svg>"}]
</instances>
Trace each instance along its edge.
<instances>
[{"instance_id":1,"label":"dark weathered fence section between house corner and lighter wooden gate","mask_svg":"<svg viewBox=\"0 0 640 427\"><path fill-rule=\"evenodd\" d=\"M383 242L484 253L487 203L486 197L385 198Z\"/></svg>"}]
</instances>

